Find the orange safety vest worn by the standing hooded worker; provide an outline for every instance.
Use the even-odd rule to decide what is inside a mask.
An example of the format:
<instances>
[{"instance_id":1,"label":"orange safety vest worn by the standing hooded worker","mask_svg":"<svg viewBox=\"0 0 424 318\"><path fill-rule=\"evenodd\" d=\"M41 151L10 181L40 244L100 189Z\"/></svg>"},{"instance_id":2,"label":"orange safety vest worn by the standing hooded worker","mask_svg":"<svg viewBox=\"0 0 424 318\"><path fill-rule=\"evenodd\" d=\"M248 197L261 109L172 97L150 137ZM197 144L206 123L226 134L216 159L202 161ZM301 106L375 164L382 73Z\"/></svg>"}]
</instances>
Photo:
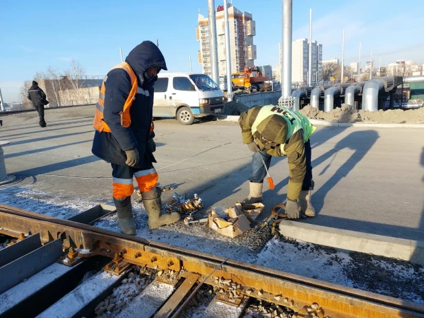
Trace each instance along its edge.
<instances>
[{"instance_id":1,"label":"orange safety vest worn by the standing hooded worker","mask_svg":"<svg viewBox=\"0 0 424 318\"><path fill-rule=\"evenodd\" d=\"M119 113L119 115L121 115L121 125L123 127L128 128L131 124L130 106L132 102L135 100L135 94L137 93L137 76L135 75L134 71L132 71L132 68L130 67L130 65L126 62L118 64L117 66L113 67L113 69L124 69L131 78L130 94L128 95L128 98L125 101L125 104L123 104L123 111ZM95 104L96 110L95 110L93 126L100 133L102 133L102 131L106 133L111 133L109 126L103 120L104 95L106 94L106 87L104 86L104 83L106 82L107 79L108 79L108 76L106 75L106 77L104 78L102 82L102 88L100 89L99 99L97 100L97 104Z\"/></svg>"}]
</instances>

